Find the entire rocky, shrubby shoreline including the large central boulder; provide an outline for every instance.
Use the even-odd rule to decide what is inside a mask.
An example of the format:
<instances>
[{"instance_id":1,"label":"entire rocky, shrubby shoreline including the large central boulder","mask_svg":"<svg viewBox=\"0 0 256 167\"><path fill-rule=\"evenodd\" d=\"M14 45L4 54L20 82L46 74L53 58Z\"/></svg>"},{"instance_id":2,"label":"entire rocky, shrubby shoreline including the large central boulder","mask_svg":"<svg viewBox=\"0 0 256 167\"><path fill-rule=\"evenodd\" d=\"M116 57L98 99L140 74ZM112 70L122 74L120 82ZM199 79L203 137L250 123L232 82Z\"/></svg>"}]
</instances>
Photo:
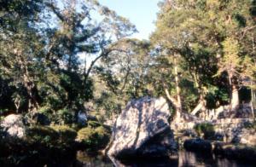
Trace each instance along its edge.
<instances>
[{"instance_id":1,"label":"entire rocky, shrubby shoreline including the large central boulder","mask_svg":"<svg viewBox=\"0 0 256 167\"><path fill-rule=\"evenodd\" d=\"M19 115L9 115L1 123L0 157L14 158L12 163L20 164L48 154L43 157L46 163L46 160L58 160L69 153L75 158L78 150L98 153L105 148L103 153L113 159L159 159L177 158L178 150L184 148L189 152L236 160L256 159L256 123L253 119L202 121L184 114L179 123L170 122L171 118L164 98L149 97L129 102L112 130L95 120L88 120L86 127L77 130L57 125L26 126ZM111 131L112 140L109 141ZM10 139L15 140L11 142Z\"/></svg>"}]
</instances>

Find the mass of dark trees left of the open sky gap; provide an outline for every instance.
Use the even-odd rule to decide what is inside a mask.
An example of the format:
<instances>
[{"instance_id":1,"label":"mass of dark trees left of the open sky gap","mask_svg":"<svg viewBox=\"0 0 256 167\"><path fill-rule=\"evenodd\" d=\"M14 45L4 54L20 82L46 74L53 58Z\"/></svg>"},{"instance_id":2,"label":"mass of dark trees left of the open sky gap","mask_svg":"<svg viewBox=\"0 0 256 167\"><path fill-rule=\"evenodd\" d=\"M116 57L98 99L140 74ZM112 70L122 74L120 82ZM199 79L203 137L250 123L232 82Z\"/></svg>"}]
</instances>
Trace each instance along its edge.
<instances>
[{"instance_id":1,"label":"mass of dark trees left of the open sky gap","mask_svg":"<svg viewBox=\"0 0 256 167\"><path fill-rule=\"evenodd\" d=\"M29 112L41 107L84 110L84 101L92 98L90 73L96 61L113 51L113 42L136 31L129 20L97 1L0 3L0 70L11 80L9 87L15 87L17 111L22 99ZM102 20L96 23L93 12ZM90 66L81 54L90 55Z\"/></svg>"}]
</instances>

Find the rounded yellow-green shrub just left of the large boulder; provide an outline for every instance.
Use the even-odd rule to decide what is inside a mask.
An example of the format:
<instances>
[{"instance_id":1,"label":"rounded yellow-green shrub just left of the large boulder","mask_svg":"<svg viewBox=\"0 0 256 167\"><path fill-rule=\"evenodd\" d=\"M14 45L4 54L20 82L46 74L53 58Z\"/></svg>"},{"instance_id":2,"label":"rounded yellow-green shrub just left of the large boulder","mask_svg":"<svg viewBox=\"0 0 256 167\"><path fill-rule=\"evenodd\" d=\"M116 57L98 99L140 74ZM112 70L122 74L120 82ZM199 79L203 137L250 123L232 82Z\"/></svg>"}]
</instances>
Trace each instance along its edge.
<instances>
[{"instance_id":1,"label":"rounded yellow-green shrub just left of the large boulder","mask_svg":"<svg viewBox=\"0 0 256 167\"><path fill-rule=\"evenodd\" d=\"M87 127L79 130L77 139L87 149L98 150L107 146L110 139L110 133L103 126L97 127L96 129Z\"/></svg>"}]
</instances>

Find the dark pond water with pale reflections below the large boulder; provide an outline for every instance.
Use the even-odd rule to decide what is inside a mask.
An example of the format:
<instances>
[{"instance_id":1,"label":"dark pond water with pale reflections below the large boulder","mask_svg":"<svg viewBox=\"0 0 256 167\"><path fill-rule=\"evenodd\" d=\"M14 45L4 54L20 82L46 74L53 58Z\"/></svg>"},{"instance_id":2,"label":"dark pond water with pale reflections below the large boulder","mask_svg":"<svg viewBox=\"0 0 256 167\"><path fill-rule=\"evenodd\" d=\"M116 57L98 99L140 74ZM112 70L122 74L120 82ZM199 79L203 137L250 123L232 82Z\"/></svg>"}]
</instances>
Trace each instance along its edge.
<instances>
[{"instance_id":1,"label":"dark pond water with pale reflections below the large boulder","mask_svg":"<svg viewBox=\"0 0 256 167\"><path fill-rule=\"evenodd\" d=\"M202 153L191 153L187 151L180 151L178 157L170 159L150 160L146 159L140 161L137 159L132 162L119 162L115 159L111 161L109 158L102 156L89 157L84 153L78 153L77 165L85 167L108 167L108 166L120 166L120 167L157 167L157 166L220 166L220 167L249 167L256 166L255 162L241 162L236 160L230 160L227 158L217 158L214 155L207 155Z\"/></svg>"}]
</instances>

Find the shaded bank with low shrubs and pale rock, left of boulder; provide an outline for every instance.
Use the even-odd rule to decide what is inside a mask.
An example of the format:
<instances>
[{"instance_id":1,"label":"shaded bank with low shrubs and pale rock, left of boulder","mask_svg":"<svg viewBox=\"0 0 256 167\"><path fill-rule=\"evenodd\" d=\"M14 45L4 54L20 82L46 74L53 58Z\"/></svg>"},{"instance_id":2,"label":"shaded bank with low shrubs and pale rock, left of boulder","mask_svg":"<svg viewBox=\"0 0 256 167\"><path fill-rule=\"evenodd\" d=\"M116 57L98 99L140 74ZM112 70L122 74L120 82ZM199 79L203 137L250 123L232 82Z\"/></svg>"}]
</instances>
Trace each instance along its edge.
<instances>
[{"instance_id":1,"label":"shaded bank with low shrubs and pale rock, left of boulder","mask_svg":"<svg viewBox=\"0 0 256 167\"><path fill-rule=\"evenodd\" d=\"M69 163L76 159L79 150L97 153L107 146L111 135L111 128L96 120L89 120L81 127L72 124L27 125L20 115L12 114L1 125L0 163L3 166Z\"/></svg>"}]
</instances>

